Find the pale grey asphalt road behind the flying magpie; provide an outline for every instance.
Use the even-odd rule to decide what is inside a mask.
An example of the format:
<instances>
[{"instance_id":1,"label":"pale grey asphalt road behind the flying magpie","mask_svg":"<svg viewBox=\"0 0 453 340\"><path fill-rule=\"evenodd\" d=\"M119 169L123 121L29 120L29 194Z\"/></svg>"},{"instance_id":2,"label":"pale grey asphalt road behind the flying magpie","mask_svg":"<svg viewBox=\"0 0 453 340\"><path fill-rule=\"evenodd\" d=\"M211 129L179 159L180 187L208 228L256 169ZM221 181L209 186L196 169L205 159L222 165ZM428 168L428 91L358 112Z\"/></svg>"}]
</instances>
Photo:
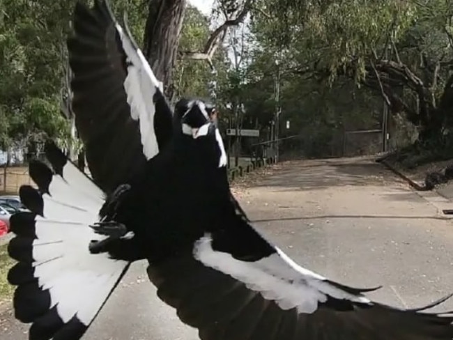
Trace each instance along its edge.
<instances>
[{"instance_id":1,"label":"pale grey asphalt road behind the flying magpie","mask_svg":"<svg viewBox=\"0 0 453 340\"><path fill-rule=\"evenodd\" d=\"M383 285L369 297L417 307L453 292L453 221L378 164L291 162L238 198L256 228L301 265L344 284ZM453 204L452 204L453 206ZM84 340L196 340L135 263ZM447 301L443 310L452 310ZM0 314L0 340L28 327Z\"/></svg>"}]
</instances>

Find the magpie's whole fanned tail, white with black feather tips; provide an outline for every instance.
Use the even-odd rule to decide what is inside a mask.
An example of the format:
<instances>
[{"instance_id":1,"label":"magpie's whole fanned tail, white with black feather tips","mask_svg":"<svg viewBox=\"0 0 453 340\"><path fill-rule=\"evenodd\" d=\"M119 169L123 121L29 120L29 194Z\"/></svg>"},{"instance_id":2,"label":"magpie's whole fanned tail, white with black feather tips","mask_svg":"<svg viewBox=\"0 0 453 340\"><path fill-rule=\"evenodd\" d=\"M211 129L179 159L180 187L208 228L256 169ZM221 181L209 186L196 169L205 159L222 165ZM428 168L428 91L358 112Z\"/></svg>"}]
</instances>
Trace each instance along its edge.
<instances>
[{"instance_id":1,"label":"magpie's whole fanned tail, white with black feather tips","mask_svg":"<svg viewBox=\"0 0 453 340\"><path fill-rule=\"evenodd\" d=\"M103 240L89 226L99 220L102 191L54 144L46 145L52 170L31 162L38 186L24 185L20 199L31 212L10 219L15 238L8 245L18 261L8 272L15 317L33 323L29 339L82 337L128 269L107 253L91 254L89 243Z\"/></svg>"}]
</instances>

